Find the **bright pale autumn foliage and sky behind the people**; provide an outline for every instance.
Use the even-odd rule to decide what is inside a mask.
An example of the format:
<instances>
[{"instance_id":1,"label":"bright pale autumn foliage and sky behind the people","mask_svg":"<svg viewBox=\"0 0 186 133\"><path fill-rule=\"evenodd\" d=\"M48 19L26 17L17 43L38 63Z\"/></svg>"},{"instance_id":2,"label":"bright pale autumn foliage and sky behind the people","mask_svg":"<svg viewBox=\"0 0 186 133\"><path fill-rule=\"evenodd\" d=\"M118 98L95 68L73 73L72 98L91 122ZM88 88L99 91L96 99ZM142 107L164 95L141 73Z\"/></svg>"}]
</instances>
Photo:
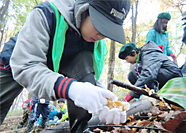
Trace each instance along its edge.
<instances>
[{"instance_id":1,"label":"bright pale autumn foliage and sky behind the people","mask_svg":"<svg viewBox=\"0 0 186 133\"><path fill-rule=\"evenodd\" d=\"M0 36L1 36L1 49L5 42L8 39L15 35L22 27L26 19L29 17L30 12L33 7L38 3L44 0L2 0L0 1ZM144 45L146 34L149 29L153 26L156 21L157 15L162 11L168 11L171 13L172 19L168 24L168 32L169 32L169 40L171 50L175 53L177 57L184 56L186 53L185 45L182 45L181 38L183 35L183 27L181 22L181 13L184 10L186 2L183 0L131 0L131 10L124 21L124 29L125 29L125 37L126 42L133 41L132 38L135 39L135 43L138 47ZM6 12L3 12L3 9L6 7L6 3L8 3L8 8ZM150 8L153 7L153 8ZM136 21L132 21L136 20ZM134 25L136 23L136 25ZM132 26L135 26L135 29L132 30ZM116 33L117 34L117 33ZM110 51L110 43L109 39L106 39L108 52ZM112 69L114 69L114 78L128 82L127 75L130 71L131 66L125 61L118 58L118 53L122 44L115 42L115 65ZM1 50L0 49L0 50ZM107 84L107 74L108 74L108 61L109 53L106 56L105 65L103 69L103 73L101 75L102 82ZM182 60L184 63L184 60ZM128 92L123 88L118 88L113 86L114 92L122 99Z\"/></svg>"}]
</instances>

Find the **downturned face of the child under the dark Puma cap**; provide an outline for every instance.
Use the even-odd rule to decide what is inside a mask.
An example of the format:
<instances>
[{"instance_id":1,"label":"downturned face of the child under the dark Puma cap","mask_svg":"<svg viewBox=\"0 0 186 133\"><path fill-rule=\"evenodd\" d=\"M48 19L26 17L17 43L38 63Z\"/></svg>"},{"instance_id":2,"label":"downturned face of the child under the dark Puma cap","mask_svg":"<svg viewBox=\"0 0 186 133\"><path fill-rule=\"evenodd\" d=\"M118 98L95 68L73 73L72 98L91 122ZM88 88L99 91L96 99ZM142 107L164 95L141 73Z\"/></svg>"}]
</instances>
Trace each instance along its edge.
<instances>
[{"instance_id":1,"label":"downturned face of the child under the dark Puma cap","mask_svg":"<svg viewBox=\"0 0 186 133\"><path fill-rule=\"evenodd\" d=\"M95 42L105 38L105 36L94 28L90 16L86 17L86 19L82 22L80 31L83 39L87 42Z\"/></svg>"}]
</instances>

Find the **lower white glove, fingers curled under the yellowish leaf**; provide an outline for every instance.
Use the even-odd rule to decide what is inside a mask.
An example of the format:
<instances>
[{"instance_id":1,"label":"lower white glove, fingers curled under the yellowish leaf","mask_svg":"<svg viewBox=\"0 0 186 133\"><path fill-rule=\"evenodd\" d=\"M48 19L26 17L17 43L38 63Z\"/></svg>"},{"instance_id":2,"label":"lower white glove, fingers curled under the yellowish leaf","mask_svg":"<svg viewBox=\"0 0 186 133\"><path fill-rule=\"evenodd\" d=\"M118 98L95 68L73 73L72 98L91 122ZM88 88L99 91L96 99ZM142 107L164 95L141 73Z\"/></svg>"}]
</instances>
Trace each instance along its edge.
<instances>
[{"instance_id":1,"label":"lower white glove, fingers curled under the yellowish leaf","mask_svg":"<svg viewBox=\"0 0 186 133\"><path fill-rule=\"evenodd\" d=\"M125 109L128 110L130 108L130 104L128 102L124 102L123 105ZM104 106L99 114L99 119L106 123L125 123L127 120L126 110L122 111L118 108L109 109L107 106Z\"/></svg>"}]
</instances>

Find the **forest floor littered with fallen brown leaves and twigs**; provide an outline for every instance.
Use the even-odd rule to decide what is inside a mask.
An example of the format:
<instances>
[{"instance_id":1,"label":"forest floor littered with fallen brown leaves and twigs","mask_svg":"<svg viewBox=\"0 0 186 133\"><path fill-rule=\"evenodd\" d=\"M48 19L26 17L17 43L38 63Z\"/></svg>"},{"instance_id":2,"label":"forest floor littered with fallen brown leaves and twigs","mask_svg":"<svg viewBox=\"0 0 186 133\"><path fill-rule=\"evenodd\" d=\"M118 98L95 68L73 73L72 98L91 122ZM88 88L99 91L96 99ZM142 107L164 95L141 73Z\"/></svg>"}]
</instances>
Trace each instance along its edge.
<instances>
[{"instance_id":1,"label":"forest floor littered with fallen brown leaves and twigs","mask_svg":"<svg viewBox=\"0 0 186 133\"><path fill-rule=\"evenodd\" d=\"M2 125L0 126L0 133L24 133L25 128L17 129L19 122L22 119L21 113L8 115ZM49 128L56 128L59 124L49 125ZM159 102L158 106L152 106L149 111L136 113L127 118L124 125L105 125L106 132L102 129L94 130L94 133L185 133L186 132L186 110L176 106L171 109ZM64 126L58 126L58 130L63 129ZM53 131L58 131L58 130ZM47 129L45 129L46 131ZM44 131L44 130L43 130ZM51 131L51 130L50 130ZM42 130L35 128L32 133L39 133ZM47 132L47 131L46 131ZM55 132L56 133L56 132ZM65 132L66 133L66 132Z\"/></svg>"}]
</instances>

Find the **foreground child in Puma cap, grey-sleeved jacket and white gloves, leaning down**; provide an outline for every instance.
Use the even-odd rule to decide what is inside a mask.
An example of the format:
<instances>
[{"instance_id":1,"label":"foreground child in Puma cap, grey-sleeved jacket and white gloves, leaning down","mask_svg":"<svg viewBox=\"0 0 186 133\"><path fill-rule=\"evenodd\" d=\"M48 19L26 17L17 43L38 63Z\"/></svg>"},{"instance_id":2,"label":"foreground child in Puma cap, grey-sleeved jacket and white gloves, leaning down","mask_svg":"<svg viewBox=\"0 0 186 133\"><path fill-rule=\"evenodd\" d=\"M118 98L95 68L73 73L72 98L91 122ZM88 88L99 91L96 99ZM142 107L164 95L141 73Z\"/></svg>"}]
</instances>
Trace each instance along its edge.
<instances>
[{"instance_id":1,"label":"foreground child in Puma cap, grey-sleeved jacket and white gloves, leaning down","mask_svg":"<svg viewBox=\"0 0 186 133\"><path fill-rule=\"evenodd\" d=\"M39 99L67 99L71 132L89 130L92 113L103 110L107 98L117 100L97 81L106 55L104 39L126 42L123 22L130 5L130 0L51 0L36 5L16 38L11 39L11 47L5 45L0 55L1 92L16 90L9 86L12 83ZM6 54L8 58L4 58ZM11 97L2 93L10 104L18 94ZM5 115L8 109L3 108ZM117 117L106 119L107 123L125 122L120 117L122 111L116 111ZM107 116L110 113L108 110Z\"/></svg>"}]
</instances>

